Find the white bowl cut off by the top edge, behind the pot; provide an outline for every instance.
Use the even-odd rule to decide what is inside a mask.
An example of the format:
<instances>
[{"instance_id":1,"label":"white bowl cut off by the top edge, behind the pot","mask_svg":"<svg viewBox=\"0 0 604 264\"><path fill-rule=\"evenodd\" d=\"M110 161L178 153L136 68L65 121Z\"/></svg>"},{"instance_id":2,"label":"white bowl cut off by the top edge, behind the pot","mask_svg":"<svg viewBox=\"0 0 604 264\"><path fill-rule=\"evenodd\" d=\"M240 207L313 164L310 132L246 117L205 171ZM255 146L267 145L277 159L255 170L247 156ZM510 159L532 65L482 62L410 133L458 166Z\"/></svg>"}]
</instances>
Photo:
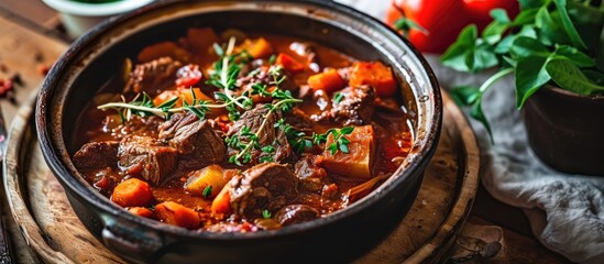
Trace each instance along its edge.
<instances>
[{"instance_id":1,"label":"white bowl cut off by the top edge, behind the pot","mask_svg":"<svg viewBox=\"0 0 604 264\"><path fill-rule=\"evenodd\" d=\"M67 34L76 38L101 21L143 7L154 0L120 0L108 3L85 3L72 0L42 0L61 13Z\"/></svg>"}]
</instances>

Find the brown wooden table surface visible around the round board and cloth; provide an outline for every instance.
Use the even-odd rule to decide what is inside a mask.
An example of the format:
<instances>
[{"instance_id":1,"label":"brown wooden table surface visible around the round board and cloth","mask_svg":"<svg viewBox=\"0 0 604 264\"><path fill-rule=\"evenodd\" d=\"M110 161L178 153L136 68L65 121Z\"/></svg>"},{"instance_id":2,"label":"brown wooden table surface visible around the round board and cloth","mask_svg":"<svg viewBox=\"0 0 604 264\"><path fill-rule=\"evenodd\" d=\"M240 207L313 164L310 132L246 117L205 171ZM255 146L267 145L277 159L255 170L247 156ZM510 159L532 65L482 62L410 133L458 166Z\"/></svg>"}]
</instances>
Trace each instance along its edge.
<instances>
[{"instance_id":1,"label":"brown wooden table surface visible around the round board and cloth","mask_svg":"<svg viewBox=\"0 0 604 264\"><path fill-rule=\"evenodd\" d=\"M19 46L19 36L40 40L39 50ZM58 14L42 1L0 1L0 78L11 78L19 73L25 86L35 89L44 78L40 70L51 65L69 45L69 41L62 30ZM14 59L10 59L15 56L23 56L22 62L15 63ZM19 102L26 97L19 88L15 88L15 92L17 102L0 99L2 107L8 108L4 118L9 121ZM481 186L464 232L493 229L503 231L503 248L498 254L488 260L474 257L464 263L570 263L536 240L520 209L499 202Z\"/></svg>"}]
</instances>

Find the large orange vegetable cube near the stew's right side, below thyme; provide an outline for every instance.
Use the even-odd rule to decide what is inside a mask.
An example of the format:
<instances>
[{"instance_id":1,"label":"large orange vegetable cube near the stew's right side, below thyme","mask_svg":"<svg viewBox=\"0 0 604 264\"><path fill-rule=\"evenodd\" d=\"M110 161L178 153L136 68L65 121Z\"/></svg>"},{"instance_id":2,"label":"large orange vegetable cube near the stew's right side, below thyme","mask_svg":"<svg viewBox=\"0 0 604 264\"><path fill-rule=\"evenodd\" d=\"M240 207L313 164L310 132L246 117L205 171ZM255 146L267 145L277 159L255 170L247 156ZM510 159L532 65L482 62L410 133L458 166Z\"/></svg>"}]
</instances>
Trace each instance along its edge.
<instances>
[{"instance_id":1,"label":"large orange vegetable cube near the stew's right side, below thyme","mask_svg":"<svg viewBox=\"0 0 604 264\"><path fill-rule=\"evenodd\" d=\"M323 152L321 166L330 174L338 174L351 178L367 179L372 177L372 167L375 160L375 135L371 125L356 127L345 138L350 141L348 153L331 150ZM327 138L326 146L333 143L333 136Z\"/></svg>"}]
</instances>

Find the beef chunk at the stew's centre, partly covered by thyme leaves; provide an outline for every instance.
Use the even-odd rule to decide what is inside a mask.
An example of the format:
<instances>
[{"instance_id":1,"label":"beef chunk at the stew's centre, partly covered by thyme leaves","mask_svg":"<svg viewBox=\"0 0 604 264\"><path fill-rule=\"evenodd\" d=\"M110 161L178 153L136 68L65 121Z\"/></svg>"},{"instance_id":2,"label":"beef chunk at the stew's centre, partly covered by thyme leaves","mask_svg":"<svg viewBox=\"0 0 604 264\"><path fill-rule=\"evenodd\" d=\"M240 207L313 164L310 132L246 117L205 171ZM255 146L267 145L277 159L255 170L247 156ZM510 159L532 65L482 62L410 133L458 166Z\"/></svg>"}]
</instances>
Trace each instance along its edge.
<instances>
[{"instance_id":1,"label":"beef chunk at the stew's centre, partly covered by thyme leaves","mask_svg":"<svg viewBox=\"0 0 604 264\"><path fill-rule=\"evenodd\" d=\"M252 132L259 131L268 111L268 108L266 108L264 105L256 105L254 109L244 112L241 116L241 119L239 119L237 122L233 123L233 125L231 125L227 135L241 135L241 131L243 130L243 128L249 128ZM259 144L261 147L266 145L275 146L275 151L271 155L274 162L283 161L289 157L292 154L292 147L289 146L289 142L287 142L285 132L278 128L275 128L275 123L281 119L281 111L276 110L275 112L273 112L271 117L266 119L264 129L259 136ZM238 150L229 147L229 156L235 155L237 153ZM251 161L251 164L257 164L259 157L261 155L266 154L263 154L259 150L254 150L252 152L253 158Z\"/></svg>"}]
</instances>

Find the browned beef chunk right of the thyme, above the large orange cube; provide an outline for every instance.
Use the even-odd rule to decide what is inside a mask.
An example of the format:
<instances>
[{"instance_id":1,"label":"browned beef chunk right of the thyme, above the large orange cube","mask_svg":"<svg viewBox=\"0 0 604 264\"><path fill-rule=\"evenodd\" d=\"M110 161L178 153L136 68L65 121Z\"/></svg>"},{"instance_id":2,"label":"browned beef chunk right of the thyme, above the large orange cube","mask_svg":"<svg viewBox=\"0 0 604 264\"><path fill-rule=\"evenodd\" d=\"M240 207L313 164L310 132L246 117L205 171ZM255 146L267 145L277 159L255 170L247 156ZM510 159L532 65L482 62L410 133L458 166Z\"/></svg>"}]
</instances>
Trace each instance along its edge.
<instances>
[{"instance_id":1,"label":"browned beef chunk right of the thyme, above the large orange cube","mask_svg":"<svg viewBox=\"0 0 604 264\"><path fill-rule=\"evenodd\" d=\"M330 111L312 116L315 121L333 120L342 125L367 124L375 110L375 91L371 86L348 87L340 92L343 99L333 102Z\"/></svg>"}]
</instances>

